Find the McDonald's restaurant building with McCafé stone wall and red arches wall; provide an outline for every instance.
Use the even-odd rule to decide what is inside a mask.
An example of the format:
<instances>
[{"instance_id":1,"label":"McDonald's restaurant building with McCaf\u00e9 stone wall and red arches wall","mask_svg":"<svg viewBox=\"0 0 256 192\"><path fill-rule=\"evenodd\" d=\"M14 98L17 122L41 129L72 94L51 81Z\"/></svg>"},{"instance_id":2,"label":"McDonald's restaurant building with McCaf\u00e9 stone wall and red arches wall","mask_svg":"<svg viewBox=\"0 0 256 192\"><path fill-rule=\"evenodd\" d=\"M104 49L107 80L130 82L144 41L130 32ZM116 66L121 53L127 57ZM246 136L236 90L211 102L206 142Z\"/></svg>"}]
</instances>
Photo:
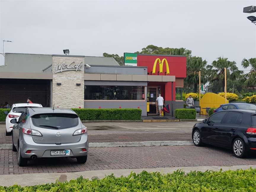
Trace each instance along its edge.
<instances>
[{"instance_id":1,"label":"McDonald's restaurant building with McCaf\u00e9 stone wall and red arches wall","mask_svg":"<svg viewBox=\"0 0 256 192\"><path fill-rule=\"evenodd\" d=\"M31 97L44 107L140 108L147 116L157 114L159 93L170 105L166 115L183 108L185 56L124 56L120 66L112 57L5 53L0 108Z\"/></svg>"}]
</instances>

